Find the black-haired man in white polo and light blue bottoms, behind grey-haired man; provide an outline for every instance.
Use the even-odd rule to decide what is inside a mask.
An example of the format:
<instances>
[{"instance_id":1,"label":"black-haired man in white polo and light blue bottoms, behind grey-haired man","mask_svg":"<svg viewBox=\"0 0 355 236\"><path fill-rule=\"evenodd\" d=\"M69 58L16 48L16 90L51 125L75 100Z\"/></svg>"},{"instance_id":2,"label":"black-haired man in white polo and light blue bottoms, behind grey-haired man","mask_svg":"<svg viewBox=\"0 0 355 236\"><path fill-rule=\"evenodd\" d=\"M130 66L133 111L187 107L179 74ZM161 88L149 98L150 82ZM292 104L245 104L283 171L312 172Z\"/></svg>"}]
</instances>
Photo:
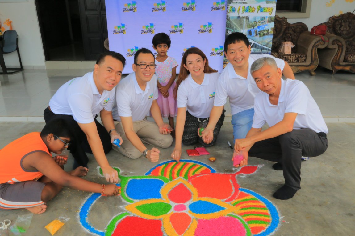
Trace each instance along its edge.
<instances>
[{"instance_id":1,"label":"black-haired man in white polo and light blue bottoms, behind grey-haired man","mask_svg":"<svg viewBox=\"0 0 355 236\"><path fill-rule=\"evenodd\" d=\"M254 98L260 91L249 73L251 64L261 57L272 57L268 54L250 54L248 38L239 32L231 33L224 42L224 54L229 60L218 78L214 106L202 139L212 142L213 129L222 114L224 104L229 97L232 114L233 137L245 138L254 115ZM274 57L272 57L274 58ZM282 59L274 58L286 78L295 79L291 67Z\"/></svg>"}]
</instances>

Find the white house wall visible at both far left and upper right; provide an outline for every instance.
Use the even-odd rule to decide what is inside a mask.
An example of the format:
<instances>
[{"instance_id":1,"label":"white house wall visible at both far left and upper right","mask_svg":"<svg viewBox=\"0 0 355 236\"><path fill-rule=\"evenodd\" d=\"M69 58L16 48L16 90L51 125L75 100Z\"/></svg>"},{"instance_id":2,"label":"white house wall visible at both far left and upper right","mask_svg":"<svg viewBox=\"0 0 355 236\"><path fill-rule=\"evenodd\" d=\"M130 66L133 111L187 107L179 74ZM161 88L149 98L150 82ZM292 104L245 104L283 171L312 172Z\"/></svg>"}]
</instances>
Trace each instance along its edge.
<instances>
[{"instance_id":1,"label":"white house wall visible at both far left and upper right","mask_svg":"<svg viewBox=\"0 0 355 236\"><path fill-rule=\"evenodd\" d=\"M310 1L310 0L309 0ZM304 22L310 30L313 26L328 21L340 13L353 12L355 0L311 0L309 18L289 18L289 23ZM334 3L332 3L334 1ZM25 68L45 67L42 39L39 33L34 0L28 2L0 3L0 21L10 18L17 31L22 64ZM59 34L60 35L60 34ZM18 65L16 53L5 55L6 64Z\"/></svg>"}]
</instances>

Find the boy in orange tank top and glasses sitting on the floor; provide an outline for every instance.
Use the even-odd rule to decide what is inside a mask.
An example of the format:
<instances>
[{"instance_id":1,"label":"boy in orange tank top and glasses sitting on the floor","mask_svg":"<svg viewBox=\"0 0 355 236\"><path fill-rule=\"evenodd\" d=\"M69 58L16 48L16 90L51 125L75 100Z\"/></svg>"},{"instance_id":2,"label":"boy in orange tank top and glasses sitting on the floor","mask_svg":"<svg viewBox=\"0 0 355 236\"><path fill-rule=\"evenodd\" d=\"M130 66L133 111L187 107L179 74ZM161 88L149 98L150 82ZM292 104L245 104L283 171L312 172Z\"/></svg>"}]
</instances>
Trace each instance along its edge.
<instances>
[{"instance_id":1,"label":"boy in orange tank top and glasses sitting on the floor","mask_svg":"<svg viewBox=\"0 0 355 236\"><path fill-rule=\"evenodd\" d=\"M0 149L0 209L25 208L34 214L45 212L45 203L54 198L63 186L114 196L115 184L97 184L78 178L86 175L86 167L70 172L63 170L71 133L65 120L52 120L42 132L33 132ZM38 180L38 181L37 181Z\"/></svg>"}]
</instances>

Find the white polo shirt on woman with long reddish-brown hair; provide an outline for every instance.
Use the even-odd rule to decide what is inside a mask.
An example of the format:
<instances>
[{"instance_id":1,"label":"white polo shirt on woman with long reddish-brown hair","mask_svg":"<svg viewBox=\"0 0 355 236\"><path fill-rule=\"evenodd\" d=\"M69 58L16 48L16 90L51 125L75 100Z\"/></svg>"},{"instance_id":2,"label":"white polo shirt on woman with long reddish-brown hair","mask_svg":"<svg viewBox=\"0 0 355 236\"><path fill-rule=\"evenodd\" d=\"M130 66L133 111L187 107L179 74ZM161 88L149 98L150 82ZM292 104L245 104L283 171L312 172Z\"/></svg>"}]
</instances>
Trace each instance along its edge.
<instances>
[{"instance_id":1,"label":"white polo shirt on woman with long reddish-brown hair","mask_svg":"<svg viewBox=\"0 0 355 236\"><path fill-rule=\"evenodd\" d=\"M178 108L186 107L195 117L204 119L211 113L219 73L204 74L202 84L187 76L178 89Z\"/></svg>"}]
</instances>

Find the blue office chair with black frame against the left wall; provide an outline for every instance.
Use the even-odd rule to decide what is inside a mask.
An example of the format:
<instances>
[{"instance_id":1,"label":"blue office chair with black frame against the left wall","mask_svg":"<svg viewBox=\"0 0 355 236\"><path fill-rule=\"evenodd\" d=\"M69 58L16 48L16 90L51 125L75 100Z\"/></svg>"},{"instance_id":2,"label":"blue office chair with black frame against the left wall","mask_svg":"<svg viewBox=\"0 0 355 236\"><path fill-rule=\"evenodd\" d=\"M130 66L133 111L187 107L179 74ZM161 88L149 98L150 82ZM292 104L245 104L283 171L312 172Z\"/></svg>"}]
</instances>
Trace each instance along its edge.
<instances>
[{"instance_id":1,"label":"blue office chair with black frame against the left wall","mask_svg":"<svg viewBox=\"0 0 355 236\"><path fill-rule=\"evenodd\" d=\"M2 68L2 72L0 74L12 74L18 71L23 70L20 51L18 50L17 45L17 32L16 30L7 30L4 32L2 36L2 40L0 40L0 66ZM20 69L19 68L6 68L4 54L11 53L17 50L18 61L20 61ZM11 72L7 72L7 70L15 70Z\"/></svg>"}]
</instances>

